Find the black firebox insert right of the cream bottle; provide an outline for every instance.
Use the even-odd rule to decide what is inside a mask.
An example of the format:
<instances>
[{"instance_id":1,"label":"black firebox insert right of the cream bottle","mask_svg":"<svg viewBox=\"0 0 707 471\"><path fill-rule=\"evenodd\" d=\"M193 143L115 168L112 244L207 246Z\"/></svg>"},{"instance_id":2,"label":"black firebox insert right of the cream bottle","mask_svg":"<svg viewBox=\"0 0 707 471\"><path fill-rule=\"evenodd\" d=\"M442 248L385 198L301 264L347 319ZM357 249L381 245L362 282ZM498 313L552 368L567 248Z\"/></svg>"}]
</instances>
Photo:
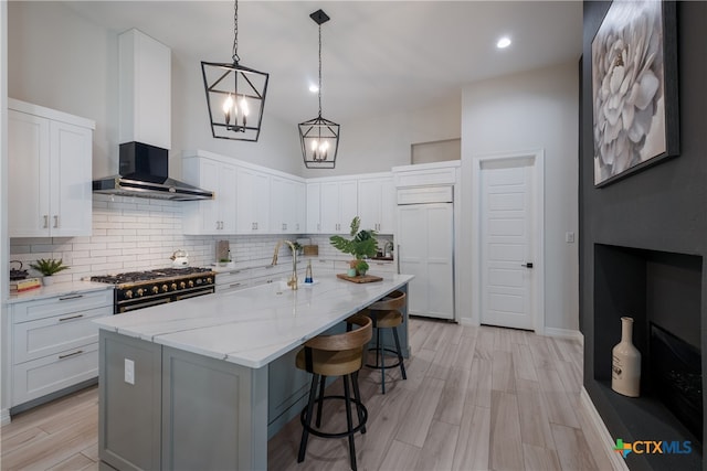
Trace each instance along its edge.
<instances>
[{"instance_id":1,"label":"black firebox insert right of the cream bottle","mask_svg":"<svg viewBox=\"0 0 707 471\"><path fill-rule=\"evenodd\" d=\"M703 374L698 349L651 322L651 389L703 442Z\"/></svg>"}]
</instances>

